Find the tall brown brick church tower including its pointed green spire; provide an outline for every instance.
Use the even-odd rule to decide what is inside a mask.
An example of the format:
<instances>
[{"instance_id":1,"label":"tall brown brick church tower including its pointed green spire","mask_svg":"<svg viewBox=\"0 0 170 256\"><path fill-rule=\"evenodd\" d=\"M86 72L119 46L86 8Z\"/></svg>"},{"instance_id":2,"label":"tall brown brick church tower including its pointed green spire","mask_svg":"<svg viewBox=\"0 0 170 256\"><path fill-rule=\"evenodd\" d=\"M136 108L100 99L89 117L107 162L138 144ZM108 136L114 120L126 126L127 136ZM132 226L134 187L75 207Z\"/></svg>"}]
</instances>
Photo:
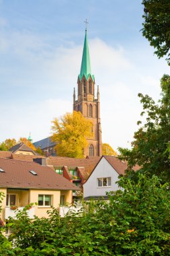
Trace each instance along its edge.
<instances>
[{"instance_id":1,"label":"tall brown brick church tower including its pointed green spire","mask_svg":"<svg viewBox=\"0 0 170 256\"><path fill-rule=\"evenodd\" d=\"M83 57L77 86L77 99L75 95L75 88L73 93L73 110L80 111L83 117L89 119L93 123L93 136L87 138L88 146L84 150L84 155L102 156L99 86L97 86L97 98L95 98L95 77L91 73L87 28L85 30Z\"/></svg>"}]
</instances>

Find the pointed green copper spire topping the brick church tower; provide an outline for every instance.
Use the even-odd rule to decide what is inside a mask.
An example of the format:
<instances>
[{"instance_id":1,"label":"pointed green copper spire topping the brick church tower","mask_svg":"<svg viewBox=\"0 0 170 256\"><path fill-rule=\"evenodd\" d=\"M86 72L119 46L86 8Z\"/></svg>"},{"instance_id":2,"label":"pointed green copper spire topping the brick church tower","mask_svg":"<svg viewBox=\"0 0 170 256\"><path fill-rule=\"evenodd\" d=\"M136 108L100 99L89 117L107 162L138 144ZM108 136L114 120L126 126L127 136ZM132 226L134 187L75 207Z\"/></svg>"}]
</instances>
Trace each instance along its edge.
<instances>
[{"instance_id":1,"label":"pointed green copper spire topping the brick church tower","mask_svg":"<svg viewBox=\"0 0 170 256\"><path fill-rule=\"evenodd\" d=\"M81 80L83 75L88 80L91 75L91 64L90 64L90 55L89 55L89 46L87 42L87 30L85 30L85 42L83 47L83 56L81 61L81 71L79 74L79 79ZM94 81L94 75L91 75L91 79Z\"/></svg>"}]
</instances>

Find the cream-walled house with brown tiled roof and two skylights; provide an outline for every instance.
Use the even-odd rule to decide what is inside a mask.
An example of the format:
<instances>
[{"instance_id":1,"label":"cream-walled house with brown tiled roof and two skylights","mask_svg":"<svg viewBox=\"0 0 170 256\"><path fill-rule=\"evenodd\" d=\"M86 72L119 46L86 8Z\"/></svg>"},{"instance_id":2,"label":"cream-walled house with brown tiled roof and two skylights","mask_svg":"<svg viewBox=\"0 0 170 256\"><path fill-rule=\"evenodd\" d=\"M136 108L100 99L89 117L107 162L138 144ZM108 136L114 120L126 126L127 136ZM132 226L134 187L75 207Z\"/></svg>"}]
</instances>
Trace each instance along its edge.
<instances>
[{"instance_id":1,"label":"cream-walled house with brown tiled roof and two skylights","mask_svg":"<svg viewBox=\"0 0 170 256\"><path fill-rule=\"evenodd\" d=\"M34 215L47 217L52 207L60 210L60 205L72 203L73 190L79 190L70 181L54 172L45 164L45 158L35 158L36 162L0 158L0 192L2 201L0 219L5 222L9 216L15 217L15 209L23 209L30 203L37 203L28 210Z\"/></svg>"}]
</instances>

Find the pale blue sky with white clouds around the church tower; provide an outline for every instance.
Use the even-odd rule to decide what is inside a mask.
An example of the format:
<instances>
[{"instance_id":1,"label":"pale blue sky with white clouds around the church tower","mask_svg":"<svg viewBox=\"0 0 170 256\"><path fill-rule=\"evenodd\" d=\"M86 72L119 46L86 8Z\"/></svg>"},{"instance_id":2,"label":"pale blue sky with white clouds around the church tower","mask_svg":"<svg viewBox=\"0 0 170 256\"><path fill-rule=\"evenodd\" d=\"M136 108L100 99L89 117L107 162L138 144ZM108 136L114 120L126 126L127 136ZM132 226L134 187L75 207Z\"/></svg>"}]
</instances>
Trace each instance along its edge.
<instances>
[{"instance_id":1,"label":"pale blue sky with white clouds around the church tower","mask_svg":"<svg viewBox=\"0 0 170 256\"><path fill-rule=\"evenodd\" d=\"M51 135L51 121L73 111L85 23L103 143L130 148L142 105L160 98L169 73L142 36L140 0L0 0L0 142Z\"/></svg>"}]
</instances>

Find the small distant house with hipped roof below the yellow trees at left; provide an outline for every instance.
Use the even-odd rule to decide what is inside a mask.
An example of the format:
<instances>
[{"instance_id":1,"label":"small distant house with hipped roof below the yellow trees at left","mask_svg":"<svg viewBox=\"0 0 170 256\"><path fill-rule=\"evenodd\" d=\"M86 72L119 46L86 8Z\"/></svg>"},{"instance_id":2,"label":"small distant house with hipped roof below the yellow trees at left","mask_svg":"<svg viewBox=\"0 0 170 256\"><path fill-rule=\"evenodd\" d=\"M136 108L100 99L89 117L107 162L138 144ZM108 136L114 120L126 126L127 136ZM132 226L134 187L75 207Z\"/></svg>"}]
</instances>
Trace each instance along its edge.
<instances>
[{"instance_id":1,"label":"small distant house with hipped roof below the yellow trees at left","mask_svg":"<svg viewBox=\"0 0 170 256\"><path fill-rule=\"evenodd\" d=\"M20 154L20 155L28 155L28 156L34 156L37 155L34 150L26 146L23 142L18 143L17 145L13 146L9 149L10 152L13 154Z\"/></svg>"}]
</instances>

